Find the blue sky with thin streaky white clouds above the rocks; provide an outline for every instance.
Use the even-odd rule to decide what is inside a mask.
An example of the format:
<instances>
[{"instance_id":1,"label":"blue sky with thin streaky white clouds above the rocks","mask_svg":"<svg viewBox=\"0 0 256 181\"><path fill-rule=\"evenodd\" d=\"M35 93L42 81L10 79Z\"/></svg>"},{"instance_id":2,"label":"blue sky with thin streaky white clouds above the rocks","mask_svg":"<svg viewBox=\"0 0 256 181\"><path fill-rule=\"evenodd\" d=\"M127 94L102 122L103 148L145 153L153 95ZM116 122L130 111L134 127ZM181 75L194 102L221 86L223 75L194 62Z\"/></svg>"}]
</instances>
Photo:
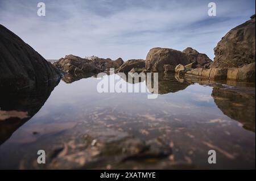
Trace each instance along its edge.
<instances>
[{"instance_id":1,"label":"blue sky with thin streaky white clouds above the rocks","mask_svg":"<svg viewBox=\"0 0 256 181\"><path fill-rule=\"evenodd\" d=\"M37 15L38 2L46 16ZM209 2L217 16L208 16ZM144 59L153 47L192 47L213 59L221 37L253 14L255 0L0 0L0 24L47 59Z\"/></svg>"}]
</instances>

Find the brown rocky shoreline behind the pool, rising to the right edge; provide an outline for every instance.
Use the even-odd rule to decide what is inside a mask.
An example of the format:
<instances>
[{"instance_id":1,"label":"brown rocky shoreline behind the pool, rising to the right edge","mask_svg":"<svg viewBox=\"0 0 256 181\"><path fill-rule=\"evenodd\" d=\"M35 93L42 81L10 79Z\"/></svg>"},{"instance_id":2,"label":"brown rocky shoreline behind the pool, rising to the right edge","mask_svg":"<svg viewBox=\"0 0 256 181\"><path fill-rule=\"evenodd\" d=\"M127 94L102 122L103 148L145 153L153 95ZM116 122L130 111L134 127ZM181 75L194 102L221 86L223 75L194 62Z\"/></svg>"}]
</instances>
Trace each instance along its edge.
<instances>
[{"instance_id":1,"label":"brown rocky shoreline behind the pool, rising to the right edge","mask_svg":"<svg viewBox=\"0 0 256 181\"><path fill-rule=\"evenodd\" d=\"M114 68L122 73L176 73L178 77L196 77L210 80L233 80L255 82L255 15L251 19L230 30L214 48L214 61L197 50L188 47L182 52L171 48L152 48L146 60L122 58L98 58L90 60L73 55L65 56L53 65L63 73L73 77L84 74L108 72Z\"/></svg>"}]
</instances>

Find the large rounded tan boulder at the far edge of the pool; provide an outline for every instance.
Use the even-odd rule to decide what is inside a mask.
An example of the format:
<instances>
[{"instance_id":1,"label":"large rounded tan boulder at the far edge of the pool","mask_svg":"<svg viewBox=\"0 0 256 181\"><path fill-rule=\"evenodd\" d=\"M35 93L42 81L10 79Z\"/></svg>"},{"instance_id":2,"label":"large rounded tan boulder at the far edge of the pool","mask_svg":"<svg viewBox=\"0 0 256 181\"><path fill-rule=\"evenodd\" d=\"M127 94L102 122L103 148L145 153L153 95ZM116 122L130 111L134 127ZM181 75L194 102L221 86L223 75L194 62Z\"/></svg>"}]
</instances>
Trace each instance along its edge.
<instances>
[{"instance_id":1,"label":"large rounded tan boulder at the far edge of the pool","mask_svg":"<svg viewBox=\"0 0 256 181\"><path fill-rule=\"evenodd\" d=\"M189 64L188 56L178 50L170 48L152 48L147 53L146 69L149 71L164 72L164 65L177 66Z\"/></svg>"}]
</instances>

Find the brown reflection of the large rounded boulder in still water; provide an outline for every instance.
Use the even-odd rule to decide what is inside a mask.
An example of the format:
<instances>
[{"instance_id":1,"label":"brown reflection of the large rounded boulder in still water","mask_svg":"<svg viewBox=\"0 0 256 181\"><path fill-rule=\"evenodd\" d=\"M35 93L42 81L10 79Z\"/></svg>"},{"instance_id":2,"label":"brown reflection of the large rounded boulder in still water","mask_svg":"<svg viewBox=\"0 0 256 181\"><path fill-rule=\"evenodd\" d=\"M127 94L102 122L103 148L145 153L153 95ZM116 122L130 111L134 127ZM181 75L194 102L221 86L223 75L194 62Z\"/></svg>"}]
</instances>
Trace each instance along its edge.
<instances>
[{"instance_id":1,"label":"brown reflection of the large rounded boulder in still water","mask_svg":"<svg viewBox=\"0 0 256 181\"><path fill-rule=\"evenodd\" d=\"M159 73L158 75L158 93L168 94L186 89L191 83L186 81L179 82L175 78L175 74ZM148 86L148 85L147 85Z\"/></svg>"}]
</instances>

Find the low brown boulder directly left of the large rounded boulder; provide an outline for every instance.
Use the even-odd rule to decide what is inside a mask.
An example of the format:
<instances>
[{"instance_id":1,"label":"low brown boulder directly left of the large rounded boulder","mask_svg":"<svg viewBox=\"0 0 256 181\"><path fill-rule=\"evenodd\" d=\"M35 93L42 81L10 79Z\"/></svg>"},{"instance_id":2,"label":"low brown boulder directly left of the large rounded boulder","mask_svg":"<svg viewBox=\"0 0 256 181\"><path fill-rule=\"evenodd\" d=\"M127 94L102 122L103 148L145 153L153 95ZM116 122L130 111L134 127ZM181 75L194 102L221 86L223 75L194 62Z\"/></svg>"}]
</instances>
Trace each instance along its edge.
<instances>
[{"instance_id":1,"label":"low brown boulder directly left of the large rounded boulder","mask_svg":"<svg viewBox=\"0 0 256 181\"><path fill-rule=\"evenodd\" d=\"M118 72L128 73L131 69L137 68L137 69L143 69L145 67L145 61L142 59L133 59L133 60L127 60L124 62L119 69Z\"/></svg>"}]
</instances>

